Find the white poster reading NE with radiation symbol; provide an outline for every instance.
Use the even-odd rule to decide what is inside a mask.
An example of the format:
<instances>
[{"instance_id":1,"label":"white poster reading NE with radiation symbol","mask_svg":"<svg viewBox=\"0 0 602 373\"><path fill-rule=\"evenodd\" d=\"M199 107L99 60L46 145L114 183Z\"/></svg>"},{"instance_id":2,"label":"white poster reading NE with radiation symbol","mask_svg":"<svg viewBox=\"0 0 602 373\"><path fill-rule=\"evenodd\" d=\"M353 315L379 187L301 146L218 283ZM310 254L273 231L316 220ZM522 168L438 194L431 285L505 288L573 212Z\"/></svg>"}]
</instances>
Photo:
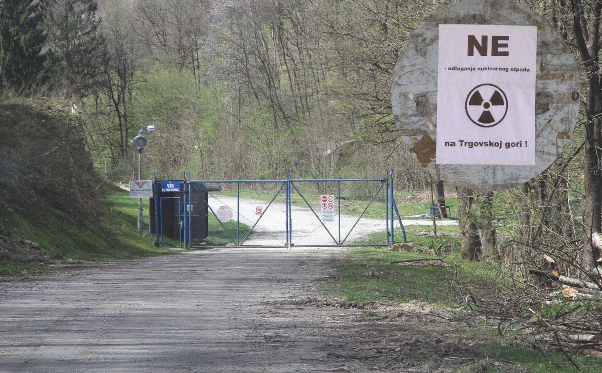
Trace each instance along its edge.
<instances>
[{"instance_id":1,"label":"white poster reading NE with radiation symbol","mask_svg":"<svg viewBox=\"0 0 602 373\"><path fill-rule=\"evenodd\" d=\"M436 164L535 164L537 26L439 25Z\"/></svg>"}]
</instances>

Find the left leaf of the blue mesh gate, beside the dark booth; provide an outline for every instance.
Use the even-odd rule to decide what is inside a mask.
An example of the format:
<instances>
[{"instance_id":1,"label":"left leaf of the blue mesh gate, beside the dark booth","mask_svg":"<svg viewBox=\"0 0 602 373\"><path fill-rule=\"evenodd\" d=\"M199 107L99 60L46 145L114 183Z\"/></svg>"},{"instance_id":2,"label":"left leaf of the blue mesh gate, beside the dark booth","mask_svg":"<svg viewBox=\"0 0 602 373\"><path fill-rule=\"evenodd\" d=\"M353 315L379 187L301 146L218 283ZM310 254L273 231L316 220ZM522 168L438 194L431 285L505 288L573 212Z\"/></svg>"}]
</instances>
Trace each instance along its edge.
<instances>
[{"instance_id":1,"label":"left leaf of the blue mesh gate, beside the dark booth","mask_svg":"<svg viewBox=\"0 0 602 373\"><path fill-rule=\"evenodd\" d=\"M191 182L190 246L287 246L286 185L284 181Z\"/></svg>"}]
</instances>

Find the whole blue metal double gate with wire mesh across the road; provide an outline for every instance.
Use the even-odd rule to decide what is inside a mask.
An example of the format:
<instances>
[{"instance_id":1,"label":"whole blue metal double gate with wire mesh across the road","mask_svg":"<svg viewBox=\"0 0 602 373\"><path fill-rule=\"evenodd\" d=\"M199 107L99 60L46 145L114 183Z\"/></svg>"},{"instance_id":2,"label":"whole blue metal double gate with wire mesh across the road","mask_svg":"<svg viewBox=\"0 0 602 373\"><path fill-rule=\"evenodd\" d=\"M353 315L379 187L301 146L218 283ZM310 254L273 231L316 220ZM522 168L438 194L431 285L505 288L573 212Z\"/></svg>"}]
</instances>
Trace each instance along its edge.
<instances>
[{"instance_id":1,"label":"whole blue metal double gate with wire mesh across the road","mask_svg":"<svg viewBox=\"0 0 602 373\"><path fill-rule=\"evenodd\" d=\"M190 180L184 173L183 191L185 248L390 246L396 223L405 241L391 171L383 179L287 173L282 180ZM157 227L162 245L163 229Z\"/></svg>"}]
</instances>

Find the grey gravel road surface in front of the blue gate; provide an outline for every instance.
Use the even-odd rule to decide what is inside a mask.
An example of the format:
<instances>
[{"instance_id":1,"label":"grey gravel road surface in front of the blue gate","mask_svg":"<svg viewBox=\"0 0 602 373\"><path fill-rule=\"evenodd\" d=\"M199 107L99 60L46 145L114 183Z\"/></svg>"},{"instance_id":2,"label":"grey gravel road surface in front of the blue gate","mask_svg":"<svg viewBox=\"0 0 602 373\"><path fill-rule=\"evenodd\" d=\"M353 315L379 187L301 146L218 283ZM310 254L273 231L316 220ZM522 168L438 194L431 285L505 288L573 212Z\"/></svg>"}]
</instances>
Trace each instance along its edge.
<instances>
[{"instance_id":1,"label":"grey gravel road surface in front of the blue gate","mask_svg":"<svg viewBox=\"0 0 602 373\"><path fill-rule=\"evenodd\" d=\"M437 354L416 350L431 346L427 324L315 301L342 250L214 249L4 279L0 371L431 371Z\"/></svg>"}]
</instances>

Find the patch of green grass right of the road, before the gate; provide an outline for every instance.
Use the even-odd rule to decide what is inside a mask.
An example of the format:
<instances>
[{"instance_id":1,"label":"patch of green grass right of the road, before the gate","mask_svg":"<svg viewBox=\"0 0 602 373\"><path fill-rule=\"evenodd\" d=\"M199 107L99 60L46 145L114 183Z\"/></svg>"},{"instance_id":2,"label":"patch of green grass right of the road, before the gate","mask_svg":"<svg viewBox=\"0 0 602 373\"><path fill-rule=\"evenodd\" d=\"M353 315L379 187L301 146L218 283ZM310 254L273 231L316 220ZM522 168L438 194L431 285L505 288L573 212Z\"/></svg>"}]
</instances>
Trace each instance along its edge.
<instances>
[{"instance_id":1,"label":"patch of green grass right of the road, before the gate","mask_svg":"<svg viewBox=\"0 0 602 373\"><path fill-rule=\"evenodd\" d=\"M396 230L396 238L401 232ZM456 251L459 238L448 235L423 236L407 232L408 242L414 252L390 251L388 248L358 247L352 249L353 260L344 262L338 268L337 281L327 285L327 291L347 301L397 301L405 303L421 300L432 304L455 306L455 300L448 294L448 284L444 277L453 274L453 267L417 267L414 265L390 264L395 260L423 259L424 257L445 256L445 262L458 264L460 276L478 277L486 273L487 267L480 262L464 262ZM396 239L396 241L398 241ZM386 232L371 233L364 241L355 244L386 242ZM442 247L442 248L439 248ZM438 253L438 254L435 254Z\"/></svg>"}]
</instances>

